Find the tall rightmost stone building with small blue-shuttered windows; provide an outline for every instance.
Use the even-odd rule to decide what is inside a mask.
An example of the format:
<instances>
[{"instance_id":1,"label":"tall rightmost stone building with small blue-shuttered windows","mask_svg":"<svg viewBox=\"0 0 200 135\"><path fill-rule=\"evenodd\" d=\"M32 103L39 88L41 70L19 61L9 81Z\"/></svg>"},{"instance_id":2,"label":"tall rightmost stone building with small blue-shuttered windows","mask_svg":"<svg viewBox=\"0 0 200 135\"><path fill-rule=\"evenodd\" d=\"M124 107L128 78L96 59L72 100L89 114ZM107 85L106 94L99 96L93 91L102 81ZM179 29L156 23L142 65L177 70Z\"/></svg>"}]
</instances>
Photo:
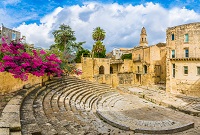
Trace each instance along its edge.
<instances>
[{"instance_id":1,"label":"tall rightmost stone building with small blue-shuttered windows","mask_svg":"<svg viewBox=\"0 0 200 135\"><path fill-rule=\"evenodd\" d=\"M200 23L166 30L168 92L200 96Z\"/></svg>"}]
</instances>

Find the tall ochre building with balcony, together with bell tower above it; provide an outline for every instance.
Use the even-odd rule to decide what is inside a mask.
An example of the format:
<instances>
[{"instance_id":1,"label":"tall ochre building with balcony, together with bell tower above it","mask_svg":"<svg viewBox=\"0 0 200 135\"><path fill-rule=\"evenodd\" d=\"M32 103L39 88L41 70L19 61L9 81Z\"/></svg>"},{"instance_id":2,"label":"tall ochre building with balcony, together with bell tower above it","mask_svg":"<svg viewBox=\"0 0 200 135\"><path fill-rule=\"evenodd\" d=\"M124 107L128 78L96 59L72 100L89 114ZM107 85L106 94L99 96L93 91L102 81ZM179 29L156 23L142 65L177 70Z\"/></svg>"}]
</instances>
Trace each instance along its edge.
<instances>
[{"instance_id":1,"label":"tall ochre building with balcony, together with bell tower above it","mask_svg":"<svg viewBox=\"0 0 200 135\"><path fill-rule=\"evenodd\" d=\"M152 85L165 83L166 44L148 46L147 33L143 27L140 44L132 49L134 83Z\"/></svg>"}]
</instances>

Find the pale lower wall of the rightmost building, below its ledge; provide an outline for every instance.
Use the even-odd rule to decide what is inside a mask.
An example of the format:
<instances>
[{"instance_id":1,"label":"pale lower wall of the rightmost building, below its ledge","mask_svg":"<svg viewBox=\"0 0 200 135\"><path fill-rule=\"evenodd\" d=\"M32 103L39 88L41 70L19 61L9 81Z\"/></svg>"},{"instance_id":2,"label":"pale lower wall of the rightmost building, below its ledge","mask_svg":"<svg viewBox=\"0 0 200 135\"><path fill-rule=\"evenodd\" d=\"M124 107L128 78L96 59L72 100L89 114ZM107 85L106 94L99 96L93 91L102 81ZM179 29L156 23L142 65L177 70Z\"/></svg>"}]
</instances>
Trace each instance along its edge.
<instances>
[{"instance_id":1,"label":"pale lower wall of the rightmost building, below its ledge","mask_svg":"<svg viewBox=\"0 0 200 135\"><path fill-rule=\"evenodd\" d=\"M172 63L169 62L170 68ZM197 67L200 67L199 61L176 61L175 62L175 78L170 73L170 80L167 81L171 85L168 92L182 93L191 96L200 96L200 75L197 75ZM188 66L188 74L184 74L184 66ZM169 82L170 81L170 82Z\"/></svg>"}]
</instances>

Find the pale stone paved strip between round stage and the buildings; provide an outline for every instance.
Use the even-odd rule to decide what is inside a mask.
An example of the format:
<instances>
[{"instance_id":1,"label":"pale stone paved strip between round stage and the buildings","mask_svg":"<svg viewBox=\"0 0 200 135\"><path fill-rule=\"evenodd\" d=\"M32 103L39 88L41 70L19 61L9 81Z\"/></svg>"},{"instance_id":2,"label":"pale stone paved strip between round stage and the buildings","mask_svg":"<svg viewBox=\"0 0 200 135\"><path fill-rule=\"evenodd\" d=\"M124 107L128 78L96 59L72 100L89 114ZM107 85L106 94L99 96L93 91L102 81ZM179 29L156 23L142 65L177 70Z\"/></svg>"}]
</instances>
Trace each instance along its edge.
<instances>
[{"instance_id":1,"label":"pale stone paved strip between round stage and the buildings","mask_svg":"<svg viewBox=\"0 0 200 135\"><path fill-rule=\"evenodd\" d=\"M200 117L200 98L189 97L182 94L169 94L161 89L150 89L141 86L119 86L118 88L158 105Z\"/></svg>"}]
</instances>

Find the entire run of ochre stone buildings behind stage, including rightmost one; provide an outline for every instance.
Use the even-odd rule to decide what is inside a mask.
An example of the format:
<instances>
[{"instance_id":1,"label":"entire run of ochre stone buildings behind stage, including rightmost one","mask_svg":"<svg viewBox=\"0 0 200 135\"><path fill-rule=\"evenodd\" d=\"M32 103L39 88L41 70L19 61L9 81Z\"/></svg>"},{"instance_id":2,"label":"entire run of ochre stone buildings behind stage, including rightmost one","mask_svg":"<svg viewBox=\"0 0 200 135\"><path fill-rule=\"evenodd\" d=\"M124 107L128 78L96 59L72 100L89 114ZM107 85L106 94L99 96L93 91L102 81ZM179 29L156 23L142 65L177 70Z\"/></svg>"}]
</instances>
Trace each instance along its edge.
<instances>
[{"instance_id":1,"label":"entire run of ochre stone buildings behind stage, including rightmost one","mask_svg":"<svg viewBox=\"0 0 200 135\"><path fill-rule=\"evenodd\" d=\"M163 84L170 93L200 96L200 22L170 27L166 43L148 46L143 27L132 60L82 58L82 79L106 83L154 86Z\"/></svg>"}]
</instances>

